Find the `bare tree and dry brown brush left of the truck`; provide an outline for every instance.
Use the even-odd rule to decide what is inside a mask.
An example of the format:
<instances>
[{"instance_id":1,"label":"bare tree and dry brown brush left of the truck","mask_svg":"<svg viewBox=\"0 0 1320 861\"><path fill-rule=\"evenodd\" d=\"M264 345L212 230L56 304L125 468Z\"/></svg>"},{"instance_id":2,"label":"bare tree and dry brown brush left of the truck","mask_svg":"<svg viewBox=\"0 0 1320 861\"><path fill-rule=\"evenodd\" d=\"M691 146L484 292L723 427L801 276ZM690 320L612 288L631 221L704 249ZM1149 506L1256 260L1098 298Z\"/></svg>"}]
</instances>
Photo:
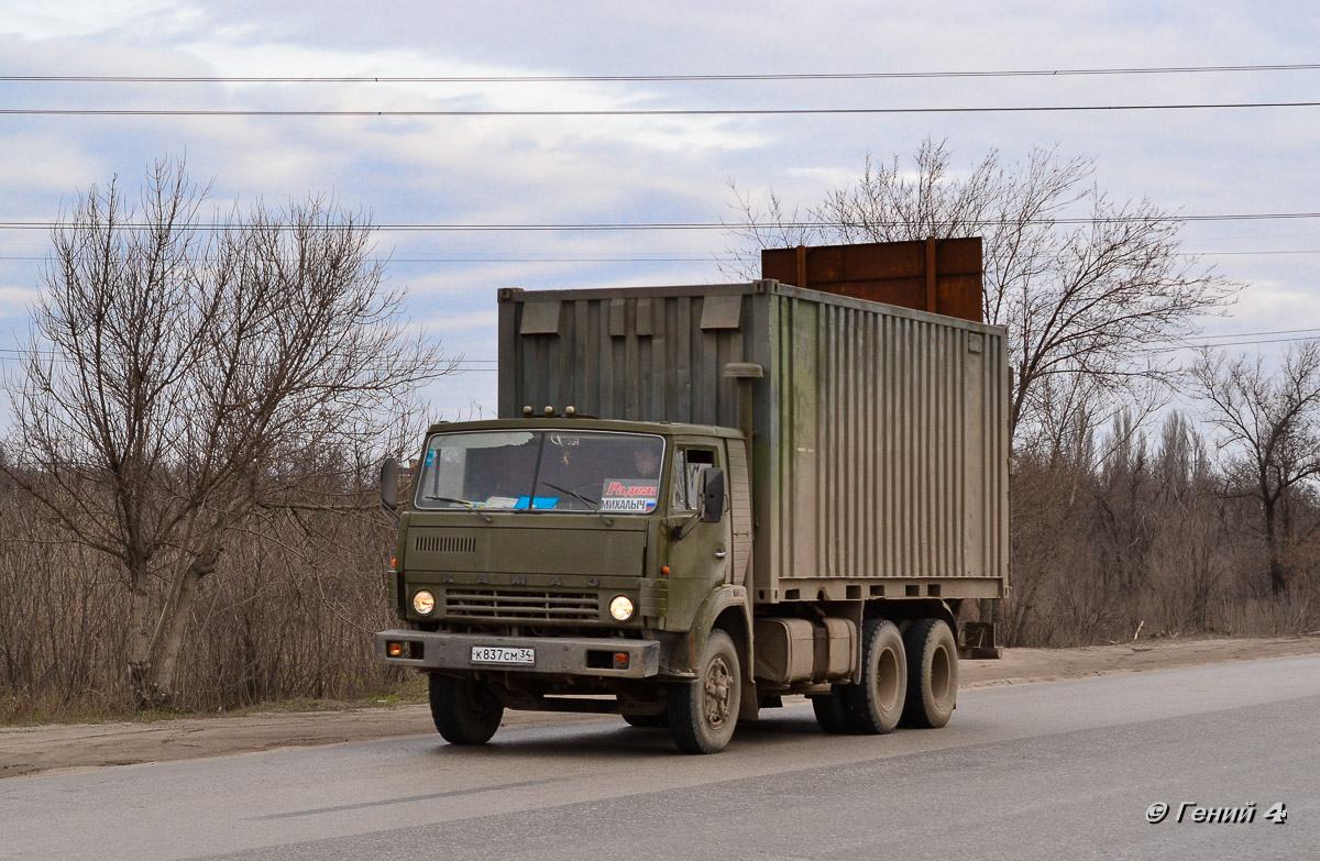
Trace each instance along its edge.
<instances>
[{"instance_id":1,"label":"bare tree and dry brown brush left of the truck","mask_svg":"<svg viewBox=\"0 0 1320 861\"><path fill-rule=\"evenodd\" d=\"M0 713L383 683L375 465L454 366L407 326L366 217L206 198L161 161L53 232L5 384Z\"/></svg>"}]
</instances>

